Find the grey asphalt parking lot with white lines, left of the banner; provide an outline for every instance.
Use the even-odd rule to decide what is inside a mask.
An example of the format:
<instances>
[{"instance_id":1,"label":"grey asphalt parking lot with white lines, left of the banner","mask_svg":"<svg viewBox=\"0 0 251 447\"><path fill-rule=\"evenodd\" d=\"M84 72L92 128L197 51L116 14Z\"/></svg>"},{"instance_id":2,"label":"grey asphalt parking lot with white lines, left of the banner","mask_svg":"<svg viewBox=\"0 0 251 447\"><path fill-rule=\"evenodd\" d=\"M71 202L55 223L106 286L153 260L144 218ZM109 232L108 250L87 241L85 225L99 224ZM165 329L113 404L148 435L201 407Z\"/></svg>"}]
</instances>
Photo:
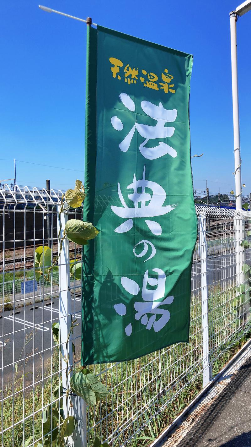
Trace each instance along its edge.
<instances>
[{"instance_id":1,"label":"grey asphalt parking lot with white lines, left of the banner","mask_svg":"<svg viewBox=\"0 0 251 447\"><path fill-rule=\"evenodd\" d=\"M73 317L81 323L81 297L71 298L71 303ZM21 375L22 372L28 381L33 378L36 381L42 375L44 378L50 376L51 355L58 349L54 345L51 325L57 321L59 298L18 308L15 315L13 310L0 315L0 376L3 371L4 380L13 373ZM79 354L81 324L74 328L74 339Z\"/></svg>"}]
</instances>

